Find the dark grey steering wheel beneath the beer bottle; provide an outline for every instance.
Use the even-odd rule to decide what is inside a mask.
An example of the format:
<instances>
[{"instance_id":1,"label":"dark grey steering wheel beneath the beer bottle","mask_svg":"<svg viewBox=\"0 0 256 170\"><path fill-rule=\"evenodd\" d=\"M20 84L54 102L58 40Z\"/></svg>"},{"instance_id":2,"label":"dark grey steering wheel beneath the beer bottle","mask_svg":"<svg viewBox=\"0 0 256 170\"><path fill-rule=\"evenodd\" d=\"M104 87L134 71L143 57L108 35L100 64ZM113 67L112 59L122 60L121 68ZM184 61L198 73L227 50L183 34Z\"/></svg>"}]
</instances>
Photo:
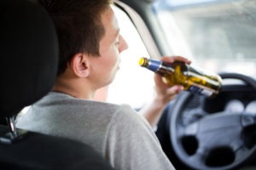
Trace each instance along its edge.
<instances>
[{"instance_id":1,"label":"dark grey steering wheel beneath the beer bottle","mask_svg":"<svg viewBox=\"0 0 256 170\"><path fill-rule=\"evenodd\" d=\"M243 82L238 89L249 87L256 92L256 81L251 77L236 73L220 76L223 80ZM220 100L227 98L225 92L229 90L230 85L223 85L216 99L189 92L177 97L169 132L174 152L187 167L196 170L237 169L256 153L256 116L244 111L230 113L219 109L224 107ZM212 105L211 111L202 106L206 103ZM245 136L250 130L254 136L251 136L253 142L249 140L248 144Z\"/></svg>"}]
</instances>

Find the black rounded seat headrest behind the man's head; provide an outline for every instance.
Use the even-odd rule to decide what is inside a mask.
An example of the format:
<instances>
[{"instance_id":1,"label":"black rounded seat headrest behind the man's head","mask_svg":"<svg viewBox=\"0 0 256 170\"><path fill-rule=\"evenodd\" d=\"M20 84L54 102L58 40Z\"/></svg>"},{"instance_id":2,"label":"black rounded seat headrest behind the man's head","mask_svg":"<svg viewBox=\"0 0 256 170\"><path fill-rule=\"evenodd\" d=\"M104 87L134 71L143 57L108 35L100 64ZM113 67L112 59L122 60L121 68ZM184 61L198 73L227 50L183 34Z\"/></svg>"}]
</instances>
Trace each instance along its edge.
<instances>
[{"instance_id":1,"label":"black rounded seat headrest behind the man's head","mask_svg":"<svg viewBox=\"0 0 256 170\"><path fill-rule=\"evenodd\" d=\"M49 14L26 0L0 2L0 117L13 116L49 92L58 41Z\"/></svg>"}]
</instances>

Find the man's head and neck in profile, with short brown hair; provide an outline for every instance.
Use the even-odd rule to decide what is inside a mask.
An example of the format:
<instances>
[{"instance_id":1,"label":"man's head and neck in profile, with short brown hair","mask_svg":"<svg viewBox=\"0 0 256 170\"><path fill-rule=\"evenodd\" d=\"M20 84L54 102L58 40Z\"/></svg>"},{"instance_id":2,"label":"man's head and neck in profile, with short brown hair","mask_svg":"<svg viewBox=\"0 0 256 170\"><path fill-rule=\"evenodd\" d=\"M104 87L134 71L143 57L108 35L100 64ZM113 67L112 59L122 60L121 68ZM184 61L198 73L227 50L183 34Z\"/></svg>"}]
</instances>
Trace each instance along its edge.
<instances>
[{"instance_id":1,"label":"man's head and neck in profile, with short brown hair","mask_svg":"<svg viewBox=\"0 0 256 170\"><path fill-rule=\"evenodd\" d=\"M111 0L39 0L52 16L60 42L53 90L92 99L113 81L127 48Z\"/></svg>"}]
</instances>

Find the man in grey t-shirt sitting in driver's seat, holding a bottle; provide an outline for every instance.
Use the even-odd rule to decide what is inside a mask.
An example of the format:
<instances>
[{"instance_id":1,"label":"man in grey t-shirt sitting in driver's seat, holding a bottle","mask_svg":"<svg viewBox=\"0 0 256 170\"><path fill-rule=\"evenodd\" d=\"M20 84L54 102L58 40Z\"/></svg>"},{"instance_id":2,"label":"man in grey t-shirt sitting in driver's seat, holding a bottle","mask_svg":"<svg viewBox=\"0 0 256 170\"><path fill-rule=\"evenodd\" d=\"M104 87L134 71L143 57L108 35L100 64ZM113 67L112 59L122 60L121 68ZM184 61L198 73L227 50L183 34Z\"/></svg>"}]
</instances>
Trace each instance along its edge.
<instances>
[{"instance_id":1,"label":"man in grey t-shirt sitting in driver's seat, holding a bottle","mask_svg":"<svg viewBox=\"0 0 256 170\"><path fill-rule=\"evenodd\" d=\"M52 92L20 116L17 127L90 144L119 170L174 169L152 128L166 103L182 90L156 76L155 105L143 110L93 101L96 90L113 81L119 54L127 48L110 7L111 0L42 0L60 40L58 77ZM170 62L189 60L165 58ZM29 123L27 123L29 122Z\"/></svg>"}]
</instances>

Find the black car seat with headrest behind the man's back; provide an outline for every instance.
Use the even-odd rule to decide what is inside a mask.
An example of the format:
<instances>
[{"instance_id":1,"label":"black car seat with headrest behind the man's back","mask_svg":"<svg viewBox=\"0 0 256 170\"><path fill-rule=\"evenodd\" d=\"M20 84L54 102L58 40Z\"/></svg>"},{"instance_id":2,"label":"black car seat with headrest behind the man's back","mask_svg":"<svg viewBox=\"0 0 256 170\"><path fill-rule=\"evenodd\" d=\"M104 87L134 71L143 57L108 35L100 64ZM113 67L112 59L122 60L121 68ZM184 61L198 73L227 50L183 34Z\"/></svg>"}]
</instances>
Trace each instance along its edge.
<instances>
[{"instance_id":1,"label":"black car seat with headrest behind the man's back","mask_svg":"<svg viewBox=\"0 0 256 170\"><path fill-rule=\"evenodd\" d=\"M112 169L94 150L62 139L15 128L15 116L47 94L55 81L55 27L36 3L0 2L0 169Z\"/></svg>"}]
</instances>

